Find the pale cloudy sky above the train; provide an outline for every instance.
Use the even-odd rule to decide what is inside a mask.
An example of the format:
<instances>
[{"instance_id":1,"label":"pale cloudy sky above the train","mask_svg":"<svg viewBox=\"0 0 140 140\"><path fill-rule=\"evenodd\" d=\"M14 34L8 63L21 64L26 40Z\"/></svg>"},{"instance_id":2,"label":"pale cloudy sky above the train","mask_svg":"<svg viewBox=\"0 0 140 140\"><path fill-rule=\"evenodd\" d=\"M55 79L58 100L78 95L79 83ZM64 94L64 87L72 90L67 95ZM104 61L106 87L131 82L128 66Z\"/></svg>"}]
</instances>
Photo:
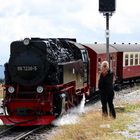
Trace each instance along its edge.
<instances>
[{"instance_id":1,"label":"pale cloudy sky above the train","mask_svg":"<svg viewBox=\"0 0 140 140\"><path fill-rule=\"evenodd\" d=\"M105 18L99 0L0 0L0 65L10 43L24 37L72 37L105 43ZM110 18L110 43L140 43L140 0L116 0Z\"/></svg>"}]
</instances>

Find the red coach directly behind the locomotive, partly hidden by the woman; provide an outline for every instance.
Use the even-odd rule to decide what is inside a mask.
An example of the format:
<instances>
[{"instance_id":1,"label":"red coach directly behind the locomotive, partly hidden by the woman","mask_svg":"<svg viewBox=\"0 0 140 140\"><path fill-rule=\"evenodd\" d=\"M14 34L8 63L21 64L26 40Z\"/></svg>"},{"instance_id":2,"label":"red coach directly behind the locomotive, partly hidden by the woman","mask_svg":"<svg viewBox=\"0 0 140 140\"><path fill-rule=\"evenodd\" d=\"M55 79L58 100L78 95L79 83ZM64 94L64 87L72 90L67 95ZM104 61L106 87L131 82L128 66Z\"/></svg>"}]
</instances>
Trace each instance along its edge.
<instances>
[{"instance_id":1,"label":"red coach directly behind the locomotive, partly hidden by the woman","mask_svg":"<svg viewBox=\"0 0 140 140\"><path fill-rule=\"evenodd\" d=\"M90 58L90 87L92 91L98 88L98 78L101 71L101 63L106 60L105 44L85 44ZM110 46L110 68L116 74L117 51Z\"/></svg>"}]
</instances>

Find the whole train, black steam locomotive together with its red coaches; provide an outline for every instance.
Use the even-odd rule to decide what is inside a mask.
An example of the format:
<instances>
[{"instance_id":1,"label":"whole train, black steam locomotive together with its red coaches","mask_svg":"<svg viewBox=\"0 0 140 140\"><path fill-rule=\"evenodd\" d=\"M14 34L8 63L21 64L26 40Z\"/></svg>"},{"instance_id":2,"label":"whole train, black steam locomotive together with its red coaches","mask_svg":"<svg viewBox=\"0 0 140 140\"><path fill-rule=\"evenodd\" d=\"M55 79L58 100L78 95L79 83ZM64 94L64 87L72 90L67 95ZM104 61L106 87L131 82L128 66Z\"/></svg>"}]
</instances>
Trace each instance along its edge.
<instances>
[{"instance_id":1,"label":"whole train, black steam locomotive together with its red coaches","mask_svg":"<svg viewBox=\"0 0 140 140\"><path fill-rule=\"evenodd\" d=\"M140 45L110 44L110 69L117 89L140 81ZM3 114L6 125L47 125L83 97L95 97L105 44L69 38L25 38L10 45L5 64Z\"/></svg>"}]
</instances>

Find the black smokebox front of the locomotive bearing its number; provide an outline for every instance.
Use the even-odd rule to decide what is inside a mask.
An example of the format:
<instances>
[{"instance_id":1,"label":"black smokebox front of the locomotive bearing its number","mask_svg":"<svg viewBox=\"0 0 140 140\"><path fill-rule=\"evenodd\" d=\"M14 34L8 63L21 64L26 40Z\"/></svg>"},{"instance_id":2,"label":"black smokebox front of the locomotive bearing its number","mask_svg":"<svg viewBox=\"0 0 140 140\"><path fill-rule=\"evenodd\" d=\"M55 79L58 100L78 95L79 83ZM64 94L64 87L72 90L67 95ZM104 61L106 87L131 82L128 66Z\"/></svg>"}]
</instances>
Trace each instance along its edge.
<instances>
[{"instance_id":1,"label":"black smokebox front of the locomotive bearing its number","mask_svg":"<svg viewBox=\"0 0 140 140\"><path fill-rule=\"evenodd\" d=\"M9 73L12 81L24 86L40 83L45 78L45 50L44 42L31 42L29 45L21 41L11 43Z\"/></svg>"}]
</instances>

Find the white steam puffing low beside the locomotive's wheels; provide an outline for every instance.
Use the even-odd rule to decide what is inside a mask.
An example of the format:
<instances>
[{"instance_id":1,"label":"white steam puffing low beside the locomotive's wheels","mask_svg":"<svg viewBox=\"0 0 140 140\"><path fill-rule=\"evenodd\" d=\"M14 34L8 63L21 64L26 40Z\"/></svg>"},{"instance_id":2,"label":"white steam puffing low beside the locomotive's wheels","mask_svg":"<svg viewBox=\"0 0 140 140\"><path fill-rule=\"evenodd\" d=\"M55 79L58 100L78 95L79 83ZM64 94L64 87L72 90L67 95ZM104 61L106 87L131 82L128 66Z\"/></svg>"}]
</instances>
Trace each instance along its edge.
<instances>
[{"instance_id":1,"label":"white steam puffing low beside the locomotive's wheels","mask_svg":"<svg viewBox=\"0 0 140 140\"><path fill-rule=\"evenodd\" d=\"M69 110L69 112L67 114L65 114L61 118L58 118L57 120L53 121L52 124L55 126L60 126L60 125L78 123L79 116L83 113L85 113L85 94L83 94L83 98L78 107L75 107L75 108Z\"/></svg>"}]
</instances>

